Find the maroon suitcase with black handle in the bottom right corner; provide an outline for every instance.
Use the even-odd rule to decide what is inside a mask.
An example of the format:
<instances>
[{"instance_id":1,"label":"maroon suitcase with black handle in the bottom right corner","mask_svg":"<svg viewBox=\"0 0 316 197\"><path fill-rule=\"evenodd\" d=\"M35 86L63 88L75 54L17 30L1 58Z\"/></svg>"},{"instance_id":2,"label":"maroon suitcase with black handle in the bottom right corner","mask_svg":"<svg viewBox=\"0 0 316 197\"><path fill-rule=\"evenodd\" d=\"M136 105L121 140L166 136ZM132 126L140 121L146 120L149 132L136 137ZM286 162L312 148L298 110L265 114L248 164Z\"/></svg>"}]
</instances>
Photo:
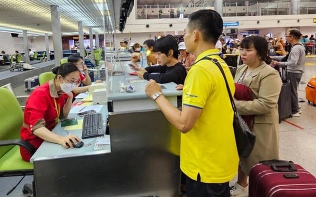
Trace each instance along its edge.
<instances>
[{"instance_id":1,"label":"maroon suitcase with black handle in the bottom right corner","mask_svg":"<svg viewBox=\"0 0 316 197\"><path fill-rule=\"evenodd\" d=\"M249 197L316 197L316 178L293 162L269 160L253 166Z\"/></svg>"}]
</instances>

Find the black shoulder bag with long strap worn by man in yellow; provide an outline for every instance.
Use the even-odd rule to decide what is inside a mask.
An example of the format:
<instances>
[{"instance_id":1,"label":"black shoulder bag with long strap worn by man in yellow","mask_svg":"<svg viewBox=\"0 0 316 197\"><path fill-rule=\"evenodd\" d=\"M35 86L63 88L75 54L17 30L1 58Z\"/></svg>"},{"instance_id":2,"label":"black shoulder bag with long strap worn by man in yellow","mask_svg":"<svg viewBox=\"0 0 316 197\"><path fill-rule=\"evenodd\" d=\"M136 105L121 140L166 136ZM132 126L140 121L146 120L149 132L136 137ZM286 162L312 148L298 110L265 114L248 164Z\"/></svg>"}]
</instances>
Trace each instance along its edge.
<instances>
[{"instance_id":1,"label":"black shoulder bag with long strap worn by man in yellow","mask_svg":"<svg viewBox=\"0 0 316 197\"><path fill-rule=\"evenodd\" d=\"M253 133L249 129L248 125L244 122L244 120L237 113L236 105L235 105L231 90L229 88L224 70L223 70L222 66L218 63L218 60L208 58L208 57L205 57L204 59L212 61L221 70L221 73L223 74L223 77L225 79L225 84L227 87L227 91L229 94L229 98L231 100L231 104L232 104L232 107L234 110L233 127L234 127L238 155L240 158L247 158L247 157L249 157L249 155L250 155L250 153L255 145L256 135L255 135L255 133Z\"/></svg>"}]
</instances>

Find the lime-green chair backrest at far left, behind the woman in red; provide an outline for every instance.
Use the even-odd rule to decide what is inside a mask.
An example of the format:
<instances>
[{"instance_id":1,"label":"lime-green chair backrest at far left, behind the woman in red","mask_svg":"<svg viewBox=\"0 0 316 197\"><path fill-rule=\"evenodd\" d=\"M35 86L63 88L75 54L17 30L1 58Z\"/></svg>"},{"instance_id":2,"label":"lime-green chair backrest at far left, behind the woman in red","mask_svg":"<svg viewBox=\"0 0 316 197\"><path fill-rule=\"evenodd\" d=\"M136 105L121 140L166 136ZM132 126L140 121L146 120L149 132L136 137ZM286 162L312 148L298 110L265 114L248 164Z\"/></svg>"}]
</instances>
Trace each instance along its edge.
<instances>
[{"instance_id":1,"label":"lime-green chair backrest at far left, behind the woman in red","mask_svg":"<svg viewBox=\"0 0 316 197\"><path fill-rule=\"evenodd\" d=\"M6 88L0 88L0 140L20 139L23 112L15 96ZM0 146L0 157L13 146Z\"/></svg>"}]
</instances>

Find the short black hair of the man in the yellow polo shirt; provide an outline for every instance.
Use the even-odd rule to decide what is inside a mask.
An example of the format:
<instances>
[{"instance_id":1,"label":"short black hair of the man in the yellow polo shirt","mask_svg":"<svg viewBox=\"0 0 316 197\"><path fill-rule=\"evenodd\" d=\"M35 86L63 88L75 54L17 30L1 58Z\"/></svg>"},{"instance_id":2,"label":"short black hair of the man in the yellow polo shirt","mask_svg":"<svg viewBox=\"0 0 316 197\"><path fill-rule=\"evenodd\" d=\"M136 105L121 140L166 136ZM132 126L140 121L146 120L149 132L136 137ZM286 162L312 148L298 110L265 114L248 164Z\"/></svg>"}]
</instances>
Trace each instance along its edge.
<instances>
[{"instance_id":1,"label":"short black hair of the man in the yellow polo shirt","mask_svg":"<svg viewBox=\"0 0 316 197\"><path fill-rule=\"evenodd\" d=\"M188 26L191 31L195 29L200 31L203 41L215 45L223 32L223 19L214 10L201 9L190 14Z\"/></svg>"}]
</instances>

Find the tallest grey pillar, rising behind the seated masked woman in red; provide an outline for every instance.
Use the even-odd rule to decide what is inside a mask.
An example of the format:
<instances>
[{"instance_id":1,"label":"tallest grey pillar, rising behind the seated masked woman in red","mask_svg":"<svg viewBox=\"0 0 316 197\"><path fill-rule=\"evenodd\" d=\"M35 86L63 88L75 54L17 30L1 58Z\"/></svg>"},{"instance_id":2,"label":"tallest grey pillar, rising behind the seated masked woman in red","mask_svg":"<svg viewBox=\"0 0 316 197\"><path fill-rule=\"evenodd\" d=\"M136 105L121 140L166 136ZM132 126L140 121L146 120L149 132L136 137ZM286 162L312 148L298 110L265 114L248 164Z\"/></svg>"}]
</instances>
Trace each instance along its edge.
<instances>
[{"instance_id":1,"label":"tallest grey pillar, rising behind the seated masked woman in red","mask_svg":"<svg viewBox=\"0 0 316 197\"><path fill-rule=\"evenodd\" d=\"M59 6L50 5L51 29L53 32L55 66L60 66L60 60L63 58L63 47L61 40L61 26L59 16Z\"/></svg>"}]
</instances>

